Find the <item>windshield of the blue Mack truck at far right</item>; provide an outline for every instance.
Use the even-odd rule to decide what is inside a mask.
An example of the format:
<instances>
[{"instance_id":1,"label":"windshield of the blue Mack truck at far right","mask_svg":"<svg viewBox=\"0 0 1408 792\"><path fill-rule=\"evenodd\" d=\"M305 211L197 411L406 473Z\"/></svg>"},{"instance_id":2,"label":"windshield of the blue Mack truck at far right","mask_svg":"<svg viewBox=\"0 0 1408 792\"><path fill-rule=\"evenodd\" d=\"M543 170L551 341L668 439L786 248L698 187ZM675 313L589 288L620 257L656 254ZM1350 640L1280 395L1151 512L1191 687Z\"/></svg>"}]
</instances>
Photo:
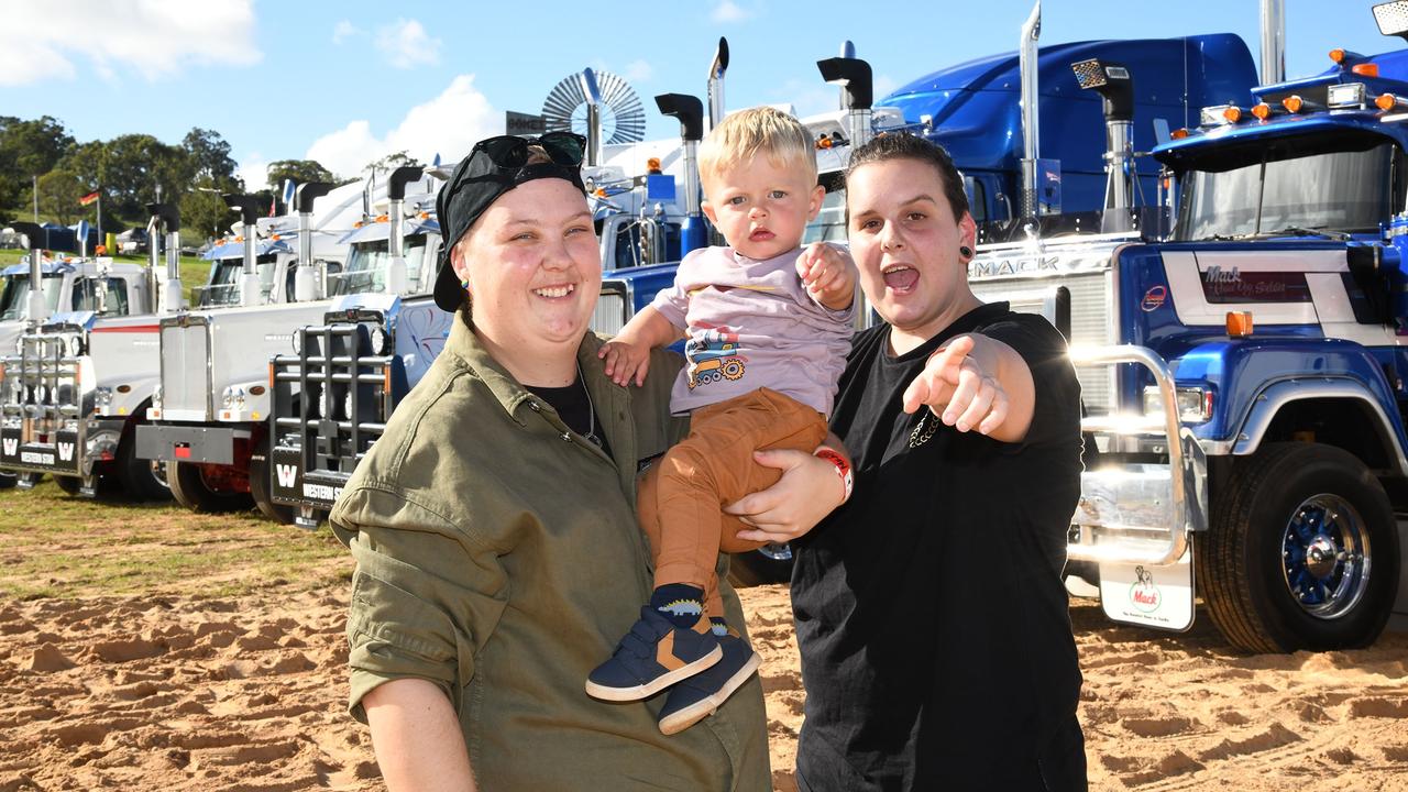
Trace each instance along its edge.
<instances>
[{"instance_id":1,"label":"windshield of the blue Mack truck at far right","mask_svg":"<svg viewBox=\"0 0 1408 792\"><path fill-rule=\"evenodd\" d=\"M1381 138L1380 138L1381 140ZM1286 141L1183 173L1177 240L1373 233L1393 204L1394 145L1307 154Z\"/></svg>"}]
</instances>

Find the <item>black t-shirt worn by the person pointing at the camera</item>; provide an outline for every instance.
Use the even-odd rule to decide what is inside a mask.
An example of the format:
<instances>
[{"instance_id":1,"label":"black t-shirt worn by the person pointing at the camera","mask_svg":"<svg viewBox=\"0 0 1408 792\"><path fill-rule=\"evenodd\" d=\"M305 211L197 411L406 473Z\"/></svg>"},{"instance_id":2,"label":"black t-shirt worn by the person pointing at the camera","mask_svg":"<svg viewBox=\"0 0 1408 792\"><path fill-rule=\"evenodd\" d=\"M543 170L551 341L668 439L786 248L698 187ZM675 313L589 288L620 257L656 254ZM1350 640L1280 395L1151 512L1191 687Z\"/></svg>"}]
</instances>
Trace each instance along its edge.
<instances>
[{"instance_id":1,"label":"black t-shirt worn by the person pointing at the camera","mask_svg":"<svg viewBox=\"0 0 1408 792\"><path fill-rule=\"evenodd\" d=\"M928 357L963 333L1031 366L1021 443L903 412ZM1060 334L1007 303L905 355L888 338L888 326L856 335L832 414L855 495L797 547L797 767L818 791L1002 788L1071 722L1080 693L1060 578L1080 496L1080 385Z\"/></svg>"}]
</instances>

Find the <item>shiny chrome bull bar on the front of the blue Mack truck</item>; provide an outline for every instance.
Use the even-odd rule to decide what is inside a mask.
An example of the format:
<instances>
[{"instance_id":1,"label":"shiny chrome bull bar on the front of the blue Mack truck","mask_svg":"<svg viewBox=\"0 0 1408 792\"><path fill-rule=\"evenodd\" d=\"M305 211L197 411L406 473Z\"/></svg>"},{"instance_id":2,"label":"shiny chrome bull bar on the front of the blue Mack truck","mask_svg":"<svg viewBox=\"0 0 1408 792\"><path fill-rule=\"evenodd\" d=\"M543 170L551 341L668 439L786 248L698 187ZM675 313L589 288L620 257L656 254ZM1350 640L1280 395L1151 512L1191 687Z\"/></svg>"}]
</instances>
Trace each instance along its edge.
<instances>
[{"instance_id":1,"label":"shiny chrome bull bar on the front of the blue Mack truck","mask_svg":"<svg viewBox=\"0 0 1408 792\"><path fill-rule=\"evenodd\" d=\"M1167 438L1169 462L1097 466L1081 474L1067 558L1110 564L1164 565L1188 548L1188 534L1208 527L1207 457L1178 417L1169 365L1146 347L1071 347L1076 365L1138 364L1163 397L1157 416L1107 414L1081 419L1081 431L1115 437Z\"/></svg>"}]
</instances>

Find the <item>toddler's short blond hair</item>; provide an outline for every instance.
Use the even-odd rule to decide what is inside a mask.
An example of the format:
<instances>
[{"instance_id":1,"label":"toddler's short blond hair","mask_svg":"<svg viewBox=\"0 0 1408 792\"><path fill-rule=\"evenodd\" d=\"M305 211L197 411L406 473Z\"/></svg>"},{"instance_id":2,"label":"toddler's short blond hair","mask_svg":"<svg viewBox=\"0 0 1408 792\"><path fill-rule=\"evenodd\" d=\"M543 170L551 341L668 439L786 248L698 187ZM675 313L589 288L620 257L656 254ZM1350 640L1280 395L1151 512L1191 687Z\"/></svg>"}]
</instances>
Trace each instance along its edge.
<instances>
[{"instance_id":1,"label":"toddler's short blond hair","mask_svg":"<svg viewBox=\"0 0 1408 792\"><path fill-rule=\"evenodd\" d=\"M777 168L803 168L817 182L817 145L801 121L773 107L728 116L700 144L700 176L714 178L758 155Z\"/></svg>"}]
</instances>

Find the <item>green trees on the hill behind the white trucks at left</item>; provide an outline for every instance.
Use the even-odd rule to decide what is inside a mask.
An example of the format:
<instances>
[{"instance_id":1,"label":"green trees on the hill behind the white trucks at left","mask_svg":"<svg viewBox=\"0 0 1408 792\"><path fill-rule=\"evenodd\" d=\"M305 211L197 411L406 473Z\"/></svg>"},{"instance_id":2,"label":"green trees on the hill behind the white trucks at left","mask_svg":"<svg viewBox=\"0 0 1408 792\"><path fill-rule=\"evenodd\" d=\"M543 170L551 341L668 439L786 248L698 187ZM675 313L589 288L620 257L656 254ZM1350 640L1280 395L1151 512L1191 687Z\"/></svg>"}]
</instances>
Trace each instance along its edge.
<instances>
[{"instance_id":1,"label":"green trees on the hill behind the white trucks at left","mask_svg":"<svg viewBox=\"0 0 1408 792\"><path fill-rule=\"evenodd\" d=\"M373 162L367 171L414 163L406 152L397 152ZM159 186L161 200L180 210L183 235L200 241L222 235L235 221L221 193L251 192L265 202L277 202L276 211L282 213L284 179L351 180L339 180L313 159L280 159L269 163L263 185L245 185L235 166L230 144L214 130L193 127L176 145L146 134L77 142L52 116L34 120L0 116L0 225L32 218L35 192L41 223L72 225L86 218L96 225L97 206L79 202L100 192L103 231L145 227L146 204L156 202Z\"/></svg>"}]
</instances>

